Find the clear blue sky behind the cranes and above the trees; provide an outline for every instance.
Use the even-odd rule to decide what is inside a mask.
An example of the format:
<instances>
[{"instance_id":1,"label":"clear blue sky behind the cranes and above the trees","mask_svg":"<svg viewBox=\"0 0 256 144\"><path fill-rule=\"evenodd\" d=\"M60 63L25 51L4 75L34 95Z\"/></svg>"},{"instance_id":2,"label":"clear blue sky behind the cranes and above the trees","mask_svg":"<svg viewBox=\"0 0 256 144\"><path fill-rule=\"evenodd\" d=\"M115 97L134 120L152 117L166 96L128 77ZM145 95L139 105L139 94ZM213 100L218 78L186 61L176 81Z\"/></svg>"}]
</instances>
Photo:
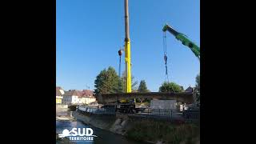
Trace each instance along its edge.
<instances>
[{"instance_id":1,"label":"clear blue sky behind the cranes and above the trees","mask_svg":"<svg viewBox=\"0 0 256 144\"><path fill-rule=\"evenodd\" d=\"M94 89L100 70L118 73L118 50L124 45L123 0L56 1L56 85L64 90ZM132 74L158 91L165 81L162 26L170 24L200 46L199 0L130 0ZM192 51L166 33L170 82L194 86L200 63ZM122 70L124 70L124 54Z\"/></svg>"}]
</instances>

